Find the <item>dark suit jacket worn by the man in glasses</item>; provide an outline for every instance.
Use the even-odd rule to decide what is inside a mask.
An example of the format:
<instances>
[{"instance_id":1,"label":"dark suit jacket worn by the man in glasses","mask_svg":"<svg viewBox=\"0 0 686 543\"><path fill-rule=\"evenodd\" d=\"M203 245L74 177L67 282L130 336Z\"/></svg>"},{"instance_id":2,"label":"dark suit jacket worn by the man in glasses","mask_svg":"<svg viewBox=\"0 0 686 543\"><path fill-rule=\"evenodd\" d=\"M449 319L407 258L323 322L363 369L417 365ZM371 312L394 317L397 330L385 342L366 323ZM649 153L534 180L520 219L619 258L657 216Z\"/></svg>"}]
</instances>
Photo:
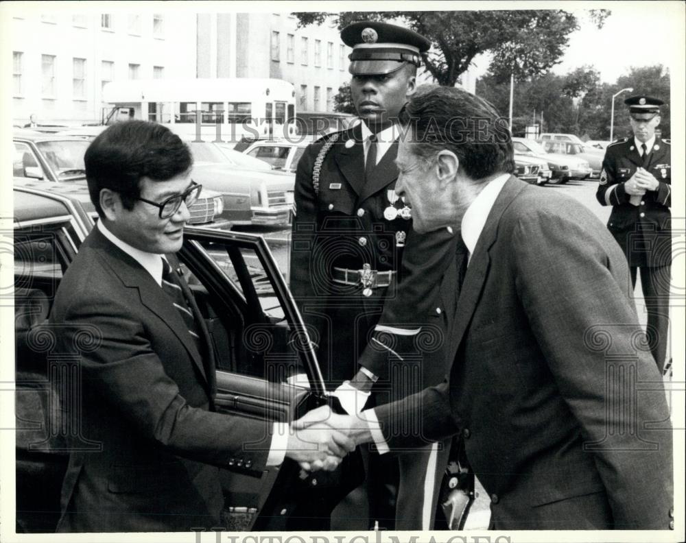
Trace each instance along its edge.
<instances>
[{"instance_id":1,"label":"dark suit jacket worn by the man in glasses","mask_svg":"<svg viewBox=\"0 0 686 543\"><path fill-rule=\"evenodd\" d=\"M259 477L268 446L243 444L267 429L213 412L211 350L201 356L152 276L96 228L62 278L51 322L79 375L58 531L221 525L218 468L241 463Z\"/></svg>"}]
</instances>

